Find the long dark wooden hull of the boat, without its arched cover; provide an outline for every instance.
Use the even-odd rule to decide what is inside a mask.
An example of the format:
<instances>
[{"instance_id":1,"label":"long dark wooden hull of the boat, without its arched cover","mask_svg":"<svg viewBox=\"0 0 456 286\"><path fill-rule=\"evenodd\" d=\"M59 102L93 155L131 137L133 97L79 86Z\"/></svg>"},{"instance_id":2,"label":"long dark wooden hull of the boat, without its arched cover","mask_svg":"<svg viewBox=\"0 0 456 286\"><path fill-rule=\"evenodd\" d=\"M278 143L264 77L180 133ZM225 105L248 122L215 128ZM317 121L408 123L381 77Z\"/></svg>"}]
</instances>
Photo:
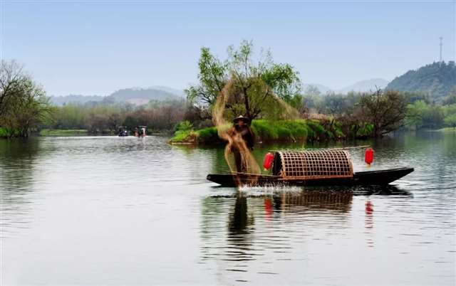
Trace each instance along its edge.
<instances>
[{"instance_id":1,"label":"long dark wooden hull of the boat, without its arched cover","mask_svg":"<svg viewBox=\"0 0 456 286\"><path fill-rule=\"evenodd\" d=\"M413 172L413 168L396 168L376 171L360 171L353 173L353 178L326 178L326 179L283 179L280 176L254 174L208 174L207 179L222 186L383 186Z\"/></svg>"}]
</instances>

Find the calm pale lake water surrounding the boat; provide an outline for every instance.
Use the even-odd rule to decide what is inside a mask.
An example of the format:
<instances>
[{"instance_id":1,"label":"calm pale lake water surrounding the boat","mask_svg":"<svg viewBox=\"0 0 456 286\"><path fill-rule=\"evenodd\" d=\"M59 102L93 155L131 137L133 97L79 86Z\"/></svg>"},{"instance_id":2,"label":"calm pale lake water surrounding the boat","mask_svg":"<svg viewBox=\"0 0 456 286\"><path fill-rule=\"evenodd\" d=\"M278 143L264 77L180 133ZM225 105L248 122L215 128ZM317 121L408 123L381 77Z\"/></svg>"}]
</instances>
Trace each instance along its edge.
<instances>
[{"instance_id":1,"label":"calm pale lake water surrounding the boat","mask_svg":"<svg viewBox=\"0 0 456 286\"><path fill-rule=\"evenodd\" d=\"M221 188L222 149L166 142L0 141L0 284L456 284L456 132L344 143L415 168L389 188Z\"/></svg>"}]
</instances>

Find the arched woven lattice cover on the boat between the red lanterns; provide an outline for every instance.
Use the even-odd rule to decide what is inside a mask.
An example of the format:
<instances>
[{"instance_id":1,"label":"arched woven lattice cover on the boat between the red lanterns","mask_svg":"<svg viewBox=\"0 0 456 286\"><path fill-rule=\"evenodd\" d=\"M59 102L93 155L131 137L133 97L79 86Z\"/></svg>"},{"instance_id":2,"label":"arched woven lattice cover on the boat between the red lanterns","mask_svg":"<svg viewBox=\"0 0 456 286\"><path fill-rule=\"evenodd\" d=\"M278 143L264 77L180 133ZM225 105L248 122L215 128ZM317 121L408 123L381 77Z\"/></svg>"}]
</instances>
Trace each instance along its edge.
<instances>
[{"instance_id":1,"label":"arched woven lattice cover on the boat between the red lanterns","mask_svg":"<svg viewBox=\"0 0 456 286\"><path fill-rule=\"evenodd\" d=\"M351 178L353 165L344 150L278 152L284 179Z\"/></svg>"}]
</instances>

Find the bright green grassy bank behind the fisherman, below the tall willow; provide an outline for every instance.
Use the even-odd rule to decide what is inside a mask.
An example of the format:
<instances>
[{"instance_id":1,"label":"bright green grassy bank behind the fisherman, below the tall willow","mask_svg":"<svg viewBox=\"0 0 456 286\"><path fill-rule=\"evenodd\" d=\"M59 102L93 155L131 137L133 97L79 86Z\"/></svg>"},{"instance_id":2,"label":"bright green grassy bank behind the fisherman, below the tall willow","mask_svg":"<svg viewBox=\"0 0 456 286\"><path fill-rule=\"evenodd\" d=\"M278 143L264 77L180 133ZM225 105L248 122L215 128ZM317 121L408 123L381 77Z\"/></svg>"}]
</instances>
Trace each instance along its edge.
<instances>
[{"instance_id":1,"label":"bright green grassy bank behind the fisherman, below the tall willow","mask_svg":"<svg viewBox=\"0 0 456 286\"><path fill-rule=\"evenodd\" d=\"M252 131L258 142L304 142L327 139L343 139L341 128L335 122L322 124L318 120L254 120ZM218 144L222 143L217 135L217 128L208 127L194 130L191 125L178 126L173 144Z\"/></svg>"}]
</instances>

